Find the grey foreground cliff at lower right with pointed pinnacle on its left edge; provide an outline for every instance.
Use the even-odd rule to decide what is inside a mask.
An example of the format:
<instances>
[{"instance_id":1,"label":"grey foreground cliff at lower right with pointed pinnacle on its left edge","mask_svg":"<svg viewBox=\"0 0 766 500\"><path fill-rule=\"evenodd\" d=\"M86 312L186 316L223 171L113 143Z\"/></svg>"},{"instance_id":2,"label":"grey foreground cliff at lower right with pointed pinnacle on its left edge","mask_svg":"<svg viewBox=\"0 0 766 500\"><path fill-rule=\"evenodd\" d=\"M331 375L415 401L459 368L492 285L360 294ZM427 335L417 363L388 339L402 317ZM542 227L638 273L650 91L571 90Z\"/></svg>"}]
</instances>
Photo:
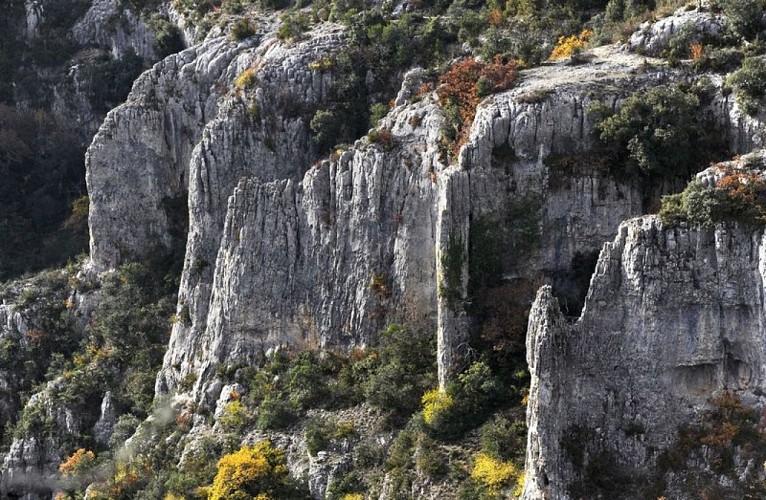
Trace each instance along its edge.
<instances>
[{"instance_id":1,"label":"grey foreground cliff at lower right with pointed pinnacle on its left edge","mask_svg":"<svg viewBox=\"0 0 766 500\"><path fill-rule=\"evenodd\" d=\"M762 230L664 230L644 217L604 246L576 323L541 289L527 337L524 498L574 498L599 457L632 478L621 494L638 497L716 391L762 406L764 270Z\"/></svg>"}]
</instances>

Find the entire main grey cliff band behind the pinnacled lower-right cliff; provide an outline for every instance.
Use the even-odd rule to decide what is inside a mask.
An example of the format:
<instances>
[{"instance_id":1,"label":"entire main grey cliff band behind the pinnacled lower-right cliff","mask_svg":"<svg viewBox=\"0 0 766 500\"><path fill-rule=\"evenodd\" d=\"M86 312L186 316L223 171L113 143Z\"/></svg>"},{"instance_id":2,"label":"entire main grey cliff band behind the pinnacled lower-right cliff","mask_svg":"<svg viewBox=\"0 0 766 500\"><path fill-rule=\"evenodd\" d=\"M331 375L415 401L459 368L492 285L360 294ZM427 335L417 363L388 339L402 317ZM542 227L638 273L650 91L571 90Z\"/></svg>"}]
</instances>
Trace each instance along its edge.
<instances>
[{"instance_id":1,"label":"entire main grey cliff band behind the pinnacled lower-right cliff","mask_svg":"<svg viewBox=\"0 0 766 500\"><path fill-rule=\"evenodd\" d=\"M554 277L587 276L601 242L651 196L587 159L561 165L587 158L593 95L616 106L678 75L614 48L597 49L590 65L528 71L480 106L454 162L433 97L408 103L405 89L382 124L393 143L363 139L314 165L308 122L334 85L322 61L344 35L326 24L286 46L273 29L240 44L212 39L156 65L88 153L97 268L182 242L176 219L188 189L180 321L158 394L195 379L214 401L217 365L249 363L280 343L367 345L384 322L411 320L436 326L444 383L465 358L465 306L489 275L505 286L502 300L554 281L569 313L579 312L576 280ZM743 133L728 100L711 106L735 148L753 143L758 124Z\"/></svg>"}]
</instances>

